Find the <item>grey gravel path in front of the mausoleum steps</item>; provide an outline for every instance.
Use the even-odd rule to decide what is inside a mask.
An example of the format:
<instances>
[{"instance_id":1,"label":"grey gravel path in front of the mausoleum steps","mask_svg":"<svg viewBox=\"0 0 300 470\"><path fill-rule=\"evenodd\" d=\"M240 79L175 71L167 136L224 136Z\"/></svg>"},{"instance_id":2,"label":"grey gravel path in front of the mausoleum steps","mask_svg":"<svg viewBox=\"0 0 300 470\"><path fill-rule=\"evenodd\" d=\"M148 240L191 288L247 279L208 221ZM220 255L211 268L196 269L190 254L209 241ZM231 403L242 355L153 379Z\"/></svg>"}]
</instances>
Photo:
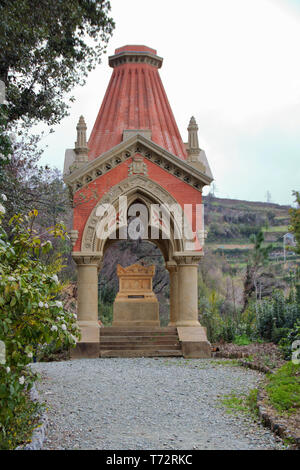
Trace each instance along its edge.
<instances>
[{"instance_id":1,"label":"grey gravel path in front of the mausoleum steps","mask_svg":"<svg viewBox=\"0 0 300 470\"><path fill-rule=\"evenodd\" d=\"M262 375L228 361L85 359L34 364L49 407L45 449L281 449L223 395L255 388Z\"/></svg>"}]
</instances>

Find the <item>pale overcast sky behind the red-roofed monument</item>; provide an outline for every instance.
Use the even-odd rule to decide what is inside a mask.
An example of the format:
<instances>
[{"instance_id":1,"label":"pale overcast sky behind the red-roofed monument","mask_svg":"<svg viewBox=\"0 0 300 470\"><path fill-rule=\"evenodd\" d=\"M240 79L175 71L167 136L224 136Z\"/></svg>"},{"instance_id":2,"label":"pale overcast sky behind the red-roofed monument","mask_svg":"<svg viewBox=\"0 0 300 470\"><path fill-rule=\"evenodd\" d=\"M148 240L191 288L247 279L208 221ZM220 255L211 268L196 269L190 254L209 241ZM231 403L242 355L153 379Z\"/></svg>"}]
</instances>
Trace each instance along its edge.
<instances>
[{"instance_id":1,"label":"pale overcast sky behind the red-roofed monument","mask_svg":"<svg viewBox=\"0 0 300 470\"><path fill-rule=\"evenodd\" d=\"M112 0L108 46L144 44L164 58L160 75L183 140L194 115L216 195L291 204L300 190L300 0ZM63 168L84 115L88 134L112 69L107 56L70 116L44 139L42 163ZM207 191L206 191L207 192Z\"/></svg>"}]
</instances>

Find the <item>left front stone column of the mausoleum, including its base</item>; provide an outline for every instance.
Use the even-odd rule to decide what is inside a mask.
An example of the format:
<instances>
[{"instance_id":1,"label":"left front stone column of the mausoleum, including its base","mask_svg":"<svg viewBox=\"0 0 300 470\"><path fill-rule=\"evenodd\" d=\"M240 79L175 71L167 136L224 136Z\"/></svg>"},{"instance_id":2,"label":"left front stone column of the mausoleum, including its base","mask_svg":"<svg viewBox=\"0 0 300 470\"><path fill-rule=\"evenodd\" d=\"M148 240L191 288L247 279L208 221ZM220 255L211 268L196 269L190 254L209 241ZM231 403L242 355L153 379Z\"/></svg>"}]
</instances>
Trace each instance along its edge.
<instances>
[{"instance_id":1,"label":"left front stone column of the mausoleum, including its base","mask_svg":"<svg viewBox=\"0 0 300 470\"><path fill-rule=\"evenodd\" d=\"M77 264L77 321L81 339L73 357L99 357L98 271L101 257L73 253Z\"/></svg>"}]
</instances>

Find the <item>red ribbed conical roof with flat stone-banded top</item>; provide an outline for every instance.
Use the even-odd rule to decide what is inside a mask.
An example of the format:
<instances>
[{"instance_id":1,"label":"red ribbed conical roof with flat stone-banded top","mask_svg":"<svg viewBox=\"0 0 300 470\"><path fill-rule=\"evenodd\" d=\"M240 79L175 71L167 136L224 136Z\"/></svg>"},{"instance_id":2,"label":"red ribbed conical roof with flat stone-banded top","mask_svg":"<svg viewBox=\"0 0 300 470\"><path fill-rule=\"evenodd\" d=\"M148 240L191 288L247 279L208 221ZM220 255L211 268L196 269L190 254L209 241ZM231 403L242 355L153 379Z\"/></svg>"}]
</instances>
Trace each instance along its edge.
<instances>
[{"instance_id":1,"label":"red ribbed conical roof with flat stone-banded top","mask_svg":"<svg viewBox=\"0 0 300 470\"><path fill-rule=\"evenodd\" d=\"M118 145L127 129L151 130L151 139L181 159L187 154L158 68L162 58L146 46L124 46L109 57L114 68L88 146L93 160Z\"/></svg>"}]
</instances>

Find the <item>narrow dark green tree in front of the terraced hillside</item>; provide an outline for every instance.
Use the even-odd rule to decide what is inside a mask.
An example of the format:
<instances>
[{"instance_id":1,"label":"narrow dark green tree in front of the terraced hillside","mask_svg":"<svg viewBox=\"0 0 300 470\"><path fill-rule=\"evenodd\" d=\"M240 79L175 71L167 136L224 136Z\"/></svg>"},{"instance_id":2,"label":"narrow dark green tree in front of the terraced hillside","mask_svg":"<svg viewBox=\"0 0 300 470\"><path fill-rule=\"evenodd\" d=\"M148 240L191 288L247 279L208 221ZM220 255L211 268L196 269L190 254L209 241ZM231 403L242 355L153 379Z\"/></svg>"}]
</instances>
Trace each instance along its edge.
<instances>
[{"instance_id":1,"label":"narrow dark green tree in front of the terraced hillside","mask_svg":"<svg viewBox=\"0 0 300 470\"><path fill-rule=\"evenodd\" d=\"M261 268L268 264L269 253L273 249L272 245L263 246L264 234L262 230L256 235L251 235L250 241L254 244L254 247L249 254L244 278L244 311L248 306L251 295L257 289L257 281L259 275L262 274Z\"/></svg>"}]
</instances>

